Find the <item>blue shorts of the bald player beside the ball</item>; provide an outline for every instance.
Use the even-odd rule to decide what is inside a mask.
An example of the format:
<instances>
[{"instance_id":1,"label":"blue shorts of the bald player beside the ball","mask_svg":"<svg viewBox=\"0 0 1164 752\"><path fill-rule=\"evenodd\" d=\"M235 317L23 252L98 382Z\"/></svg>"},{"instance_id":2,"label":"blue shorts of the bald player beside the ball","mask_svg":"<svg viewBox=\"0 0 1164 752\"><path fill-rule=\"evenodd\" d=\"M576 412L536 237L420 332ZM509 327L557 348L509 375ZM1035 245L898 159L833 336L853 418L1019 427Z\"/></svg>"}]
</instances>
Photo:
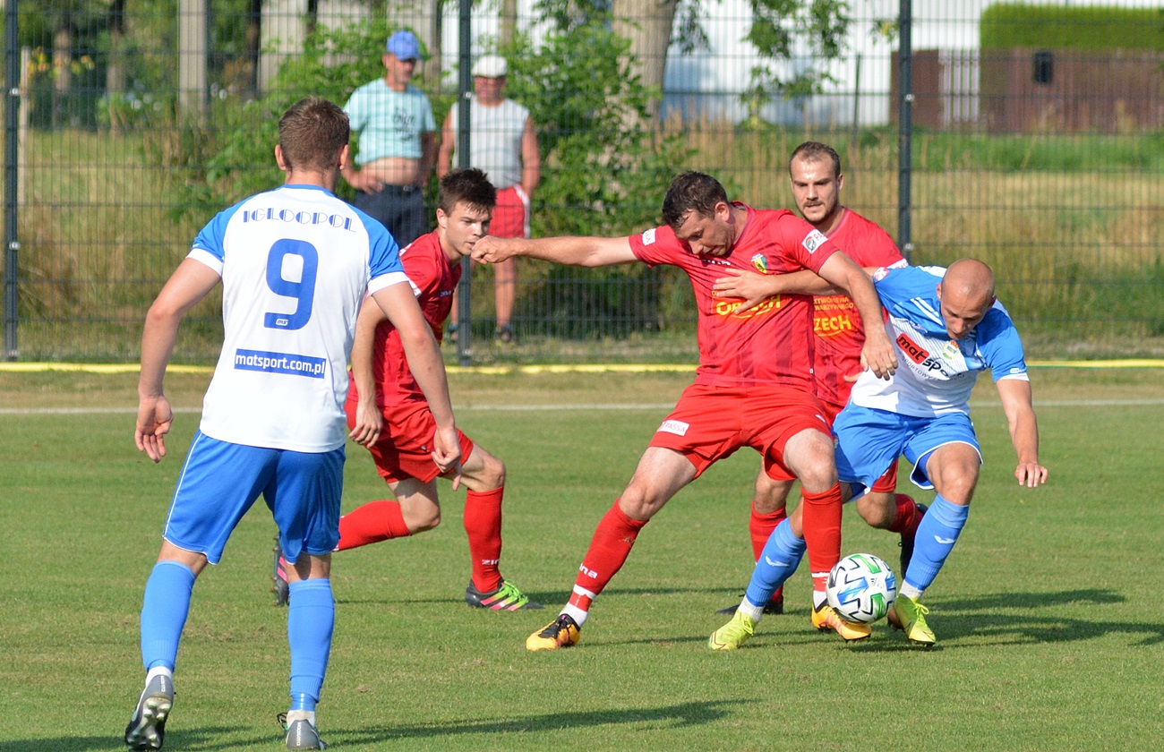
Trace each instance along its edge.
<instances>
[{"instance_id":1,"label":"blue shorts of the bald player beside the ball","mask_svg":"<svg viewBox=\"0 0 1164 752\"><path fill-rule=\"evenodd\" d=\"M934 488L925 475L925 461L938 447L968 444L979 462L982 460L974 424L963 412L917 418L849 403L832 424L832 433L837 437L837 474L842 481L865 488L872 488L902 454L914 463L909 480L924 489Z\"/></svg>"}]
</instances>

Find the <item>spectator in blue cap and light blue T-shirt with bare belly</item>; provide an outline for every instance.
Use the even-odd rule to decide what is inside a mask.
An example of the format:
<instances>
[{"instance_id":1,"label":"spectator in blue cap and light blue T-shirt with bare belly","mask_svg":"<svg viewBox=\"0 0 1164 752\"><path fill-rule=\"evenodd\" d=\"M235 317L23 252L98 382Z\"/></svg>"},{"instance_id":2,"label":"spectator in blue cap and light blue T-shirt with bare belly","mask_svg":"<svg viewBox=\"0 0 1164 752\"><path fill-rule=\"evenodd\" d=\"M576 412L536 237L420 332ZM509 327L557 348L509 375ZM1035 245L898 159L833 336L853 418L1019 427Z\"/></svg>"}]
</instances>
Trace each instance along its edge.
<instances>
[{"instance_id":1,"label":"spectator in blue cap and light blue T-shirt with bare belly","mask_svg":"<svg viewBox=\"0 0 1164 752\"><path fill-rule=\"evenodd\" d=\"M424 187L436 162L432 105L411 83L419 61L417 36L396 31L384 49L384 77L352 92L343 107L357 134L355 164L343 165L343 179L356 189L356 208L402 248L428 229Z\"/></svg>"}]
</instances>

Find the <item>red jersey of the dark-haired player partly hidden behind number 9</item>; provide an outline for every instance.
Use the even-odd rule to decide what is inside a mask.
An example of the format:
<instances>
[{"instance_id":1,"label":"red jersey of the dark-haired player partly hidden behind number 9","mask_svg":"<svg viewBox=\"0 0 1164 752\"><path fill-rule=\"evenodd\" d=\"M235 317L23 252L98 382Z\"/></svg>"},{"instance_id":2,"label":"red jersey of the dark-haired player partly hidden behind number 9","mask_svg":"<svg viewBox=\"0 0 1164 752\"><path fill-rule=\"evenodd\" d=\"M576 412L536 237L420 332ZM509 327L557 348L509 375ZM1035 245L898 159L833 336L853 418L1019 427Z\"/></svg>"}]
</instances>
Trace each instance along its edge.
<instances>
[{"instance_id":1,"label":"red jersey of the dark-haired player partly hidden behind number 9","mask_svg":"<svg viewBox=\"0 0 1164 752\"><path fill-rule=\"evenodd\" d=\"M404 274L409 276L420 311L433 328L436 341L443 335L445 319L453 308L453 295L461 279L461 264L449 261L440 246L436 230L421 235L400 251ZM425 400L420 385L409 370L400 333L389 320L376 327L372 347L372 376L376 379L376 405L384 407L404 402ZM352 379L348 399L355 397L356 383Z\"/></svg>"}]
</instances>

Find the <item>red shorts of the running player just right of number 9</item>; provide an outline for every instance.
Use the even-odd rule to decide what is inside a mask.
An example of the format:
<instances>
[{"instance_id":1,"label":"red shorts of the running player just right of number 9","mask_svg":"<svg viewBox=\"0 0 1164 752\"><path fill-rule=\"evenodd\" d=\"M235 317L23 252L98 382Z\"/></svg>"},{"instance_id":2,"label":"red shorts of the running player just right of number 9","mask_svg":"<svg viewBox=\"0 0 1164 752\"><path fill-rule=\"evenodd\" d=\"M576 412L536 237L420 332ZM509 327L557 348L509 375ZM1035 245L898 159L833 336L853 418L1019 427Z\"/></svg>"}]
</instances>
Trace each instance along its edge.
<instances>
[{"instance_id":1,"label":"red shorts of the running player just right of number 9","mask_svg":"<svg viewBox=\"0 0 1164 752\"><path fill-rule=\"evenodd\" d=\"M350 393L355 393L353 390ZM347 400L343 412L348 416L348 428L356 425L356 405L354 399ZM403 405L381 407L384 417L384 428L376 444L368 447L371 459L376 461L376 470L389 483L416 478L427 483L438 475L440 468L433 462L433 437L436 434L436 420L426 402L410 402ZM461 460L469 459L473 453L473 440L456 431L461 442Z\"/></svg>"}]
</instances>

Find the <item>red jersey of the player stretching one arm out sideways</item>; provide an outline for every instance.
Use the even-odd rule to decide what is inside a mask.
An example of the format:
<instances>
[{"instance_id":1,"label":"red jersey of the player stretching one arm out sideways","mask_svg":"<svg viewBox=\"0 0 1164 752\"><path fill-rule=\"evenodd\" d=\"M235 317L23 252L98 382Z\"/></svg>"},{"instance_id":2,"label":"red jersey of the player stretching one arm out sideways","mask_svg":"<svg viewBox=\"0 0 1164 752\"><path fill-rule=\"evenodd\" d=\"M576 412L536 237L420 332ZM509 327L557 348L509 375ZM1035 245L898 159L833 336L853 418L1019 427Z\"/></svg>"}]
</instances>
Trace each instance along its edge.
<instances>
[{"instance_id":1,"label":"red jersey of the player stretching one arm out sideways","mask_svg":"<svg viewBox=\"0 0 1164 752\"><path fill-rule=\"evenodd\" d=\"M691 281L698 311L696 384L776 384L812 391L811 296L779 296L737 314L739 299L712 297L712 285L726 276L725 269L816 272L837 247L787 210L759 211L739 203L733 206L747 210L747 220L728 256L696 256L666 226L632 235L631 250L652 267L679 267Z\"/></svg>"}]
</instances>

